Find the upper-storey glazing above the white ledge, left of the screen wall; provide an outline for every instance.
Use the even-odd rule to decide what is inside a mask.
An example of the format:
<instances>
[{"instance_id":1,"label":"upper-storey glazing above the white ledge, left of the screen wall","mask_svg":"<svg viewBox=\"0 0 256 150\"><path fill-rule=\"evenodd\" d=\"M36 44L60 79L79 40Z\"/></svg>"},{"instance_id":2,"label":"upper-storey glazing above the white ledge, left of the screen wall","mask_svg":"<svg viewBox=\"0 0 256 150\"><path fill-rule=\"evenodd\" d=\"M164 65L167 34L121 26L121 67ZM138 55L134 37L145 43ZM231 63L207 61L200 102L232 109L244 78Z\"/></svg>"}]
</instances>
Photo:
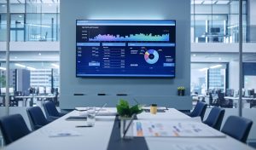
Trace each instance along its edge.
<instances>
[{"instance_id":1,"label":"upper-storey glazing above the white ledge, left of the screen wall","mask_svg":"<svg viewBox=\"0 0 256 150\"><path fill-rule=\"evenodd\" d=\"M6 4L0 1L0 32L6 30ZM11 41L59 41L59 0L11 1ZM5 37L0 38L5 41Z\"/></svg>"}]
</instances>

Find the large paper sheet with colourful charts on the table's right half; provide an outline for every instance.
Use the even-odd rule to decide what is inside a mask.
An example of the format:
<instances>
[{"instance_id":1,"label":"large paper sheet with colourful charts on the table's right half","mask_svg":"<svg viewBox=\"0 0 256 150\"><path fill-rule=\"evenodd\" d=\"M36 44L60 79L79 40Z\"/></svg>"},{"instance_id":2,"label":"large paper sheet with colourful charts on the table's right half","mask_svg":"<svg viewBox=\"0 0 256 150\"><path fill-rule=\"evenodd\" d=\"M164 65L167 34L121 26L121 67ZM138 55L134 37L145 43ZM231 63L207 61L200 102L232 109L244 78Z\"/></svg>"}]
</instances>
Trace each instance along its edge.
<instances>
[{"instance_id":1,"label":"large paper sheet with colourful charts on the table's right half","mask_svg":"<svg viewBox=\"0 0 256 150\"><path fill-rule=\"evenodd\" d=\"M224 137L225 135L198 122L134 120L133 136Z\"/></svg>"}]
</instances>

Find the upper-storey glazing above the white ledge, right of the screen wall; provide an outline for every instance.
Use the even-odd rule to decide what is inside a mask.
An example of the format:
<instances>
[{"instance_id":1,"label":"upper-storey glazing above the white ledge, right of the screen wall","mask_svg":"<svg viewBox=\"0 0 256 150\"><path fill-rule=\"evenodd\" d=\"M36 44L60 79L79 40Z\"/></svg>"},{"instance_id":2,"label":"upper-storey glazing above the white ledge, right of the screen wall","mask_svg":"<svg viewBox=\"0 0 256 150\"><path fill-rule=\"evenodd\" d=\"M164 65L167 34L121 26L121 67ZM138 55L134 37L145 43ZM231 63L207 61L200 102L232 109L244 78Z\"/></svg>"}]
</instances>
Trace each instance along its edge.
<instances>
[{"instance_id":1,"label":"upper-storey glazing above the white ledge, right of the screen wall","mask_svg":"<svg viewBox=\"0 0 256 150\"><path fill-rule=\"evenodd\" d=\"M247 0L243 1L243 41L247 36ZM192 43L238 43L239 0L191 0Z\"/></svg>"}]
</instances>

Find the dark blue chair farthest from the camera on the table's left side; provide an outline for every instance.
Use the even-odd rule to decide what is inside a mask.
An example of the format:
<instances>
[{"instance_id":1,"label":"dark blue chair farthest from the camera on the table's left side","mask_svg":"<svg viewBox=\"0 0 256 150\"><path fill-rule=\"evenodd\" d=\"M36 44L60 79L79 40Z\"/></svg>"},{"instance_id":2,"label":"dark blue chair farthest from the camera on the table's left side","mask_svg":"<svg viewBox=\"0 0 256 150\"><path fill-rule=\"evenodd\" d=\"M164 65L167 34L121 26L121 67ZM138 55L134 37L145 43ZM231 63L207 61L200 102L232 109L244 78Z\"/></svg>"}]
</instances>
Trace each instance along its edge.
<instances>
[{"instance_id":1,"label":"dark blue chair farthest from the camera on the table's left side","mask_svg":"<svg viewBox=\"0 0 256 150\"><path fill-rule=\"evenodd\" d=\"M57 108L55 107L55 103L51 101L45 102L43 106L44 106L44 112L46 114L46 118L49 121L54 121L55 119L65 115L65 113L59 113Z\"/></svg>"}]
</instances>

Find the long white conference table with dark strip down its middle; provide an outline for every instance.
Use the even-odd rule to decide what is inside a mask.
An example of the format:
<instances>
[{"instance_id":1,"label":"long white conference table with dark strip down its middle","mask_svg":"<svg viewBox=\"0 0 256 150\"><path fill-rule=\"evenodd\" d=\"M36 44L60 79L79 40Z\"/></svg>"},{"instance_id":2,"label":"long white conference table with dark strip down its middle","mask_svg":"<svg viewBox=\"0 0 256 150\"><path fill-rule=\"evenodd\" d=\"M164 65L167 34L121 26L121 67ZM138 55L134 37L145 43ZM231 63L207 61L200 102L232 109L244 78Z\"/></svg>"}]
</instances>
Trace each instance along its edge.
<instances>
[{"instance_id":1,"label":"long white conference table with dark strip down its middle","mask_svg":"<svg viewBox=\"0 0 256 150\"><path fill-rule=\"evenodd\" d=\"M114 112L115 108L104 108L108 112ZM219 137L189 137L189 136L145 136L133 137L131 139L122 139L118 133L119 120L116 116L96 116L96 122L93 127L77 127L84 125L86 121L70 121L70 116L79 116L83 112L73 111L67 115L58 118L54 122L45 125L43 128L33 131L28 136L11 143L4 150L26 149L26 150L103 150L103 149L177 149L177 150L194 150L194 149L232 149L245 150L253 149L246 144L236 141L230 136ZM165 113L141 113L137 115L137 120L172 123L180 122L182 124L201 124L208 130L213 130L206 124L202 124L198 119L180 113L174 108L169 108ZM222 134L218 130L215 132ZM62 133L55 135L56 133ZM65 134L66 133L66 134ZM69 134L67 134L69 133ZM59 135L59 136L58 136Z\"/></svg>"}]
</instances>

